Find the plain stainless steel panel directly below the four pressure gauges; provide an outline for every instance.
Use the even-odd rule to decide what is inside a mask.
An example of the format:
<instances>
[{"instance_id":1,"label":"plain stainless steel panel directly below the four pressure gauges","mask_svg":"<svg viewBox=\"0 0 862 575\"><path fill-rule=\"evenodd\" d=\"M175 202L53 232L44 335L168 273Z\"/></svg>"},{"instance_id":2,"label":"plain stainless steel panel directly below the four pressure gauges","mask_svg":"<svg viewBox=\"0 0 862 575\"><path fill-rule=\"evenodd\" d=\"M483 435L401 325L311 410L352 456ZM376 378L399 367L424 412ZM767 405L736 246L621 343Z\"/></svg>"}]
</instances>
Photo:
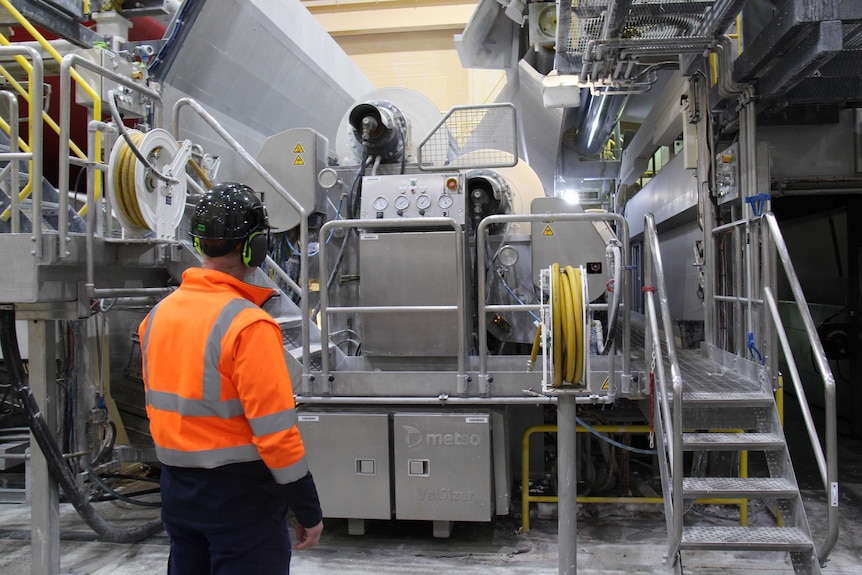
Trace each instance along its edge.
<instances>
[{"instance_id":1,"label":"plain stainless steel panel directly below the four pressure gauges","mask_svg":"<svg viewBox=\"0 0 862 575\"><path fill-rule=\"evenodd\" d=\"M366 192L363 192L365 195ZM362 234L360 305L457 305L455 234ZM362 318L362 351L384 356L454 356L455 311L375 313Z\"/></svg>"}]
</instances>

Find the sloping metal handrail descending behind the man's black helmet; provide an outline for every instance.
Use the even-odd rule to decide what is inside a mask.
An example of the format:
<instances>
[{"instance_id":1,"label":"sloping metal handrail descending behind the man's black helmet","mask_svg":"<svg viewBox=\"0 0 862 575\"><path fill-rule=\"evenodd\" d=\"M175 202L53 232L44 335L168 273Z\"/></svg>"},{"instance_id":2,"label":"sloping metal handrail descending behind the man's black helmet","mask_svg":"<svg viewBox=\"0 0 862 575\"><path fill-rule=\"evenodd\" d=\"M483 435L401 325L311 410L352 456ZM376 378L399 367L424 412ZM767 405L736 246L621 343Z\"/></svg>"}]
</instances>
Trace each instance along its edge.
<instances>
[{"instance_id":1,"label":"sloping metal handrail descending behind the man's black helmet","mask_svg":"<svg viewBox=\"0 0 862 575\"><path fill-rule=\"evenodd\" d=\"M239 155L248 165L254 168L255 172L257 172L264 181L272 186L272 188L280 195L284 200L290 204L290 206L299 214L299 241L300 245L307 246L308 245L308 213L305 211L305 208L302 207L293 196L291 196L287 190L276 180L272 174L270 174L266 168L261 166L257 160L255 160L248 151L242 147L242 145L237 142L228 132L222 127L222 125L216 120L209 112L203 109L203 107L198 104L195 100L191 98L180 98L174 104L174 138L179 139L180 133L180 110L184 107L189 107L194 110L198 116L201 117L209 126L224 140L234 152ZM308 323L308 250L303 249L299 254L299 281L300 287L302 288L302 295L299 300L300 309L302 310L302 379L303 386L306 385L306 382L311 380L311 344L309 342L309 338L311 337L311 326ZM325 341L325 340L321 340ZM324 357L326 354L323 354Z\"/></svg>"}]
</instances>

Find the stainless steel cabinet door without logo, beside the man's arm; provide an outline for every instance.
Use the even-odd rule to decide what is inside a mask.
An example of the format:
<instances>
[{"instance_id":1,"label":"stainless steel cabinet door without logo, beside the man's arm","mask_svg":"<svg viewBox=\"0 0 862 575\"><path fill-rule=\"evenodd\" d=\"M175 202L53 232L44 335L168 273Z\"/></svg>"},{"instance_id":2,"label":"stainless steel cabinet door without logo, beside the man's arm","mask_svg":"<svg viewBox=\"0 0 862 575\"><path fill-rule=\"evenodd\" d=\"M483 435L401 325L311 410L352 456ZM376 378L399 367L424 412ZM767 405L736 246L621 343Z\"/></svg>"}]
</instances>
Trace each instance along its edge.
<instances>
[{"instance_id":1,"label":"stainless steel cabinet door without logo, beside the man's arm","mask_svg":"<svg viewBox=\"0 0 862 575\"><path fill-rule=\"evenodd\" d=\"M303 411L298 426L323 515L390 519L389 417Z\"/></svg>"}]
</instances>

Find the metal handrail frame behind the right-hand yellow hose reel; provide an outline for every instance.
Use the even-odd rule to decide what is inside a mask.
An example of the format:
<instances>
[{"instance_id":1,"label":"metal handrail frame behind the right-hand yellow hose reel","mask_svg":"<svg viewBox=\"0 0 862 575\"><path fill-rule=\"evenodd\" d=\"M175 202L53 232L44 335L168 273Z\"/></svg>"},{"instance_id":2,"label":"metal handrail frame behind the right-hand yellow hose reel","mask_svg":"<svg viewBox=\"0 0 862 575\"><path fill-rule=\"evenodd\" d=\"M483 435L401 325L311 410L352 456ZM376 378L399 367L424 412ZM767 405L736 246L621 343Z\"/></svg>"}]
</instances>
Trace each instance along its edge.
<instances>
[{"instance_id":1,"label":"metal handrail frame behind the right-hand yellow hose reel","mask_svg":"<svg viewBox=\"0 0 862 575\"><path fill-rule=\"evenodd\" d=\"M615 222L617 224L617 236L622 236L622 257L623 257L623 270L627 270L631 266L631 253L629 249L629 224L625 217L620 214L611 214L611 213L580 213L580 214L566 214L566 213L558 213L558 214L511 214L511 215L497 215L497 216L488 216L484 218L481 222L479 222L479 227L476 231L476 237L478 238L478 255L476 257L477 265L485 265L484 262L487 258L486 255L486 245L485 245L485 233L488 230L489 226L494 224L501 223L521 223L521 222ZM623 274L622 283L620 286L622 289L622 293L624 297L627 297L628 294L628 274ZM486 317L486 311L488 310L502 310L501 306L486 306L485 305L485 291L487 289L486 281L484 273L478 274L478 314L479 314L479 388L480 392L483 394L488 393L488 385L490 383L490 376L488 374L488 318ZM624 374L629 373L630 369L630 361L631 361L631 353L629 349L629 342L631 341L631 305L628 302L623 301L623 365L622 371ZM534 309L532 306L519 306L518 309L527 311ZM613 375L613 374L611 374Z\"/></svg>"}]
</instances>

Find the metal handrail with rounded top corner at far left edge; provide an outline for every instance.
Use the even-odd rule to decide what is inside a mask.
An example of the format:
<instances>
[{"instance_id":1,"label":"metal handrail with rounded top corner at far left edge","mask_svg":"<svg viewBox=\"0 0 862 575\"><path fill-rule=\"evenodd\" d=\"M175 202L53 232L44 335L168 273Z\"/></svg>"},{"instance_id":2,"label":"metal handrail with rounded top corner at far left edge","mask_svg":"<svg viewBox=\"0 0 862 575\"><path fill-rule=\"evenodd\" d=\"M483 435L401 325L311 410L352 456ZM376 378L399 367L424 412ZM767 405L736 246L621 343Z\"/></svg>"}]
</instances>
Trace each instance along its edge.
<instances>
[{"instance_id":1,"label":"metal handrail with rounded top corner at far left edge","mask_svg":"<svg viewBox=\"0 0 862 575\"><path fill-rule=\"evenodd\" d=\"M35 48L31 48L30 46L0 46L0 56L26 56L33 63L32 68L30 70L30 89L35 89L34 86L42 86L44 82L44 67L42 64L42 57L39 55L39 52L36 51ZM29 159L32 166L30 168L30 193L33 196L33 241L35 245L33 246L34 251L32 252L36 258L42 257L42 98L33 98L31 97L30 102L30 152L27 154L28 157L23 159ZM17 109L17 106L16 106ZM39 118L39 119L37 119ZM18 122L17 113L12 119L12 123ZM11 127L11 124L10 124ZM17 134L17 127L14 128ZM12 154L12 146L18 146L18 138L13 140L9 138L9 158L14 159ZM22 159L20 156L15 156L18 159ZM15 170L17 172L17 170ZM17 176L13 175L13 178L16 180L17 184ZM10 196L13 196L12 206L14 209L20 210L20 205L16 200L18 197L18 190L10 190ZM18 221L18 213L11 213L10 217L13 219L13 226L16 225ZM14 228L13 228L14 229Z\"/></svg>"}]
</instances>

